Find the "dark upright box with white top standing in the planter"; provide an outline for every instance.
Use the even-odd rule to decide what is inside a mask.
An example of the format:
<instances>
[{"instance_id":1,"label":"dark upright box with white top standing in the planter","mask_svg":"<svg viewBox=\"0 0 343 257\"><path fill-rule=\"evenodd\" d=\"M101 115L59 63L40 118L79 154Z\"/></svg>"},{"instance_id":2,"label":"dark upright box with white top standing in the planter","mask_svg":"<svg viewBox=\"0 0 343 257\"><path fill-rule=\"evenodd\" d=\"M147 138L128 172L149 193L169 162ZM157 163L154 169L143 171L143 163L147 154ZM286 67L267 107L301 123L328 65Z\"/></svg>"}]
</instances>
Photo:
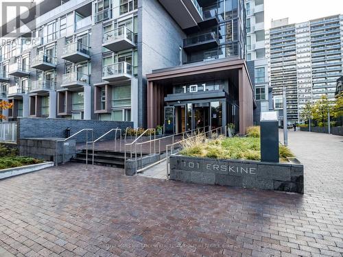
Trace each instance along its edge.
<instances>
[{"instance_id":1,"label":"dark upright box with white top standing in the planter","mask_svg":"<svg viewBox=\"0 0 343 257\"><path fill-rule=\"evenodd\" d=\"M277 112L261 112L261 162L279 162Z\"/></svg>"}]
</instances>

